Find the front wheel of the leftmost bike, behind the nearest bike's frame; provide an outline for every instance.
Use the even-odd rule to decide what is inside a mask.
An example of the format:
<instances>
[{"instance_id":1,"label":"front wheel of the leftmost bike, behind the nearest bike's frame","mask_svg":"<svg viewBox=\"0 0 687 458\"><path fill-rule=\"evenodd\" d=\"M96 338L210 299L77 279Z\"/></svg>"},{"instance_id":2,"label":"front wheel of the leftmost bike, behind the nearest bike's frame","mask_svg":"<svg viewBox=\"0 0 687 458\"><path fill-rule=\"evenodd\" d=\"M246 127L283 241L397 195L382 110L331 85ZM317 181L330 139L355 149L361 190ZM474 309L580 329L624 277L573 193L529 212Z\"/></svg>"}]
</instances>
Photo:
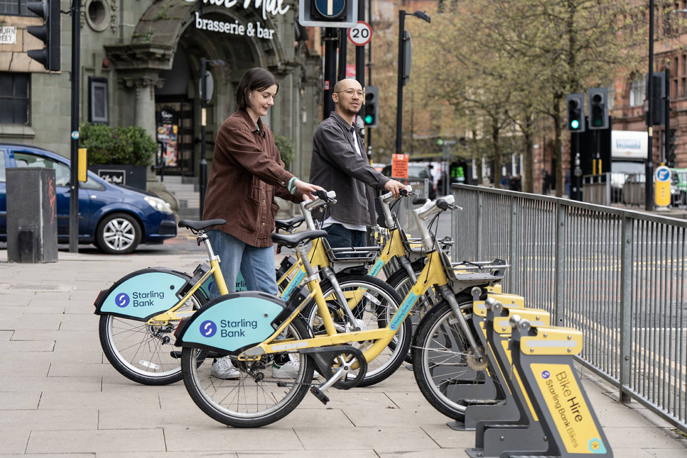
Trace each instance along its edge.
<instances>
[{"instance_id":1,"label":"front wheel of the leftmost bike, behind the nearest bike's frame","mask_svg":"<svg viewBox=\"0 0 687 458\"><path fill-rule=\"evenodd\" d=\"M337 275L337 281L345 297L358 294L361 298L353 312L357 318L362 320L365 329L386 327L400 307L401 297L390 285L380 279L365 274L341 274ZM335 287L329 281L323 281L320 286L337 332L351 330L346 329L348 319L343 309L343 307L349 307L348 303L341 305L334 294ZM315 301L308 305L302 314L306 317L308 327L313 335L326 334ZM368 362L368 371L357 386L374 385L390 377L403 364L403 358L407 355L410 347L411 332L409 320L403 320L389 345L379 353L379 356ZM373 341L350 342L348 345L357 347L364 352L373 343Z\"/></svg>"}]
</instances>

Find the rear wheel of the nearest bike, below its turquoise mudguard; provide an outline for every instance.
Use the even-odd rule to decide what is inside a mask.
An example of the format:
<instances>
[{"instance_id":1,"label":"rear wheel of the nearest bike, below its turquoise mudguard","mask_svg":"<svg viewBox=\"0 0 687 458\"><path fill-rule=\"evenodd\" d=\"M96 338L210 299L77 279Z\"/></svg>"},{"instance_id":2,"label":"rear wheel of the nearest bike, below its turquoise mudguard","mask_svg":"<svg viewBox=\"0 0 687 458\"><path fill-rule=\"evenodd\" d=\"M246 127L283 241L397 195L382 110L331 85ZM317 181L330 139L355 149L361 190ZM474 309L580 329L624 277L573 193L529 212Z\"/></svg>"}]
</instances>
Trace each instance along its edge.
<instances>
[{"instance_id":1,"label":"rear wheel of the nearest bike, below its turquoise mudguard","mask_svg":"<svg viewBox=\"0 0 687 458\"><path fill-rule=\"evenodd\" d=\"M301 318L284 329L280 338L296 340L308 337ZM288 415L308 392L313 380L313 362L301 353L289 353L288 364L275 373L273 362L282 353L265 355L257 361L238 361L228 356L238 371L232 380L212 374L212 364L220 358L199 361L199 349L185 347L181 351L181 371L186 391L193 402L218 422L236 428L256 428L271 424ZM289 366L291 373L283 368Z\"/></svg>"}]
</instances>

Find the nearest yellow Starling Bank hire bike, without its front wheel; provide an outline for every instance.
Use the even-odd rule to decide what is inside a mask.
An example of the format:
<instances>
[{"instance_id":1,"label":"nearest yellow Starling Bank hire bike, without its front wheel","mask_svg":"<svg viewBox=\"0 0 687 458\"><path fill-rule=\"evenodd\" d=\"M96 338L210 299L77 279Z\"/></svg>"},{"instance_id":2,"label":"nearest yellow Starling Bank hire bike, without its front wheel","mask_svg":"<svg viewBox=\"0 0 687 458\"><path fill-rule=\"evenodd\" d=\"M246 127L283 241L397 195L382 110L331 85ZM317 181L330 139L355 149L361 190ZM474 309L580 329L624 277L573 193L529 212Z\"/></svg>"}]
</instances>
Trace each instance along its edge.
<instances>
[{"instance_id":1,"label":"nearest yellow Starling Bank hire bike, without its front wheel","mask_svg":"<svg viewBox=\"0 0 687 458\"><path fill-rule=\"evenodd\" d=\"M493 265L469 264L460 266L462 273L456 273L454 269L459 266L452 266L446 254L434 250L436 241L425 225L425 219L449 208L453 208L450 195L414 210L430 259L401 307L393 314L378 318L384 322L379 329L339 332L335 327L319 275L308 261L306 248L306 243L323 237L326 232L273 235L276 243L295 248L306 270L307 290L298 294L299 300L289 303L259 292L228 294L184 318L175 333L175 345L182 347L181 371L194 402L217 421L238 427L263 426L281 419L301 402L308 389L326 403L328 397L323 391L331 386L337 389L357 386L368 362L389 346L398 330L407 324L405 318L417 298L431 285L436 285L447 299L455 315L450 322L460 324L462 353L483 363L486 358L458 307L453 288L463 291L470 283L484 288L494 285L502 279L506 266L502 261ZM301 315L313 301L326 329L322 336L311 336ZM357 342L358 346L350 345L351 342ZM297 369L288 377L275 378L269 369L273 360L282 358L284 353ZM236 380L212 376L212 361L223 356L229 356L238 369ZM324 375L324 382L313 383L315 367Z\"/></svg>"}]
</instances>

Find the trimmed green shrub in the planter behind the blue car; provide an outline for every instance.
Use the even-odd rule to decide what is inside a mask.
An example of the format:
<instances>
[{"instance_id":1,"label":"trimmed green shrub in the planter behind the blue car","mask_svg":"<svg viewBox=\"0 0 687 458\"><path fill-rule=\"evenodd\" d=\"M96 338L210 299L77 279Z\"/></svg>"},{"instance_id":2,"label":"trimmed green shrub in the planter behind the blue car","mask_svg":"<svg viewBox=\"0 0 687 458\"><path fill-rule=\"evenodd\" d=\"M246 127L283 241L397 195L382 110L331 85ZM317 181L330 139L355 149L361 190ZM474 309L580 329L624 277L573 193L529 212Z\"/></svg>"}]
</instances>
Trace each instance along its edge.
<instances>
[{"instance_id":1,"label":"trimmed green shrub in the planter behind the blue car","mask_svg":"<svg viewBox=\"0 0 687 458\"><path fill-rule=\"evenodd\" d=\"M148 166L153 163L157 143L142 127L109 127L81 124L79 142L88 149L88 164Z\"/></svg>"}]
</instances>

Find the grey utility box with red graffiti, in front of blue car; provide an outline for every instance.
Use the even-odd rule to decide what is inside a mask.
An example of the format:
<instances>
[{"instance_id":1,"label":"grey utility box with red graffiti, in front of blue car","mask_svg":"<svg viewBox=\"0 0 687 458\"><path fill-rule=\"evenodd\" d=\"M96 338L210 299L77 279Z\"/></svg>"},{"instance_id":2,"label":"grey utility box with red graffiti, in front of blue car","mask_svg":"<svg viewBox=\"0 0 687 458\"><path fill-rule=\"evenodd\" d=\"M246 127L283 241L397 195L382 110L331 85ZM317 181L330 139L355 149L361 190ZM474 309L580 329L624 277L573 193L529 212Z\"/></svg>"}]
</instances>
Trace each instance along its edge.
<instances>
[{"instance_id":1,"label":"grey utility box with red graffiti, in front of blue car","mask_svg":"<svg viewBox=\"0 0 687 458\"><path fill-rule=\"evenodd\" d=\"M52 168L16 167L7 176L7 259L57 261L57 195Z\"/></svg>"}]
</instances>

